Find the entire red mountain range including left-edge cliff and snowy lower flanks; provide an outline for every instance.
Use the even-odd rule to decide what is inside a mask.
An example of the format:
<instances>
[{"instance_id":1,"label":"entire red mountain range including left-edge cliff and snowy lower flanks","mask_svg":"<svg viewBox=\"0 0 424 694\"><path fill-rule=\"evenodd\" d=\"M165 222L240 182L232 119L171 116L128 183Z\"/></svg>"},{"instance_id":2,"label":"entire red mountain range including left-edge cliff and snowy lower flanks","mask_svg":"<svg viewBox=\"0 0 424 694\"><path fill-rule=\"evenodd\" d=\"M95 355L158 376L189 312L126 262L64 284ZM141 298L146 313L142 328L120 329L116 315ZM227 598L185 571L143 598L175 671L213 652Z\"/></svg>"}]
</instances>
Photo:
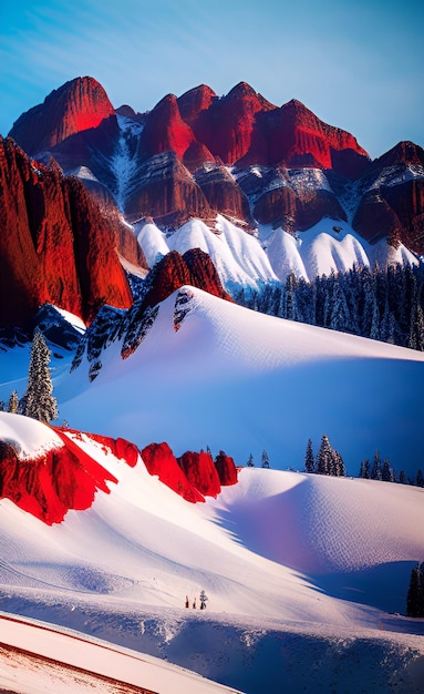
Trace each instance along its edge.
<instances>
[{"instance_id":1,"label":"entire red mountain range including left-edge cliff and snowy lower flanks","mask_svg":"<svg viewBox=\"0 0 424 694\"><path fill-rule=\"evenodd\" d=\"M1 325L28 324L44 302L85 322L102 303L128 306L113 247L138 274L169 249L200 247L232 295L290 273L310 280L354 264L416 264L423 253L418 145L371 161L300 102L275 106L246 83L224 96L200 85L141 114L77 78L9 135L1 222L19 233L2 234L1 257L17 306L2 307Z\"/></svg>"}]
</instances>

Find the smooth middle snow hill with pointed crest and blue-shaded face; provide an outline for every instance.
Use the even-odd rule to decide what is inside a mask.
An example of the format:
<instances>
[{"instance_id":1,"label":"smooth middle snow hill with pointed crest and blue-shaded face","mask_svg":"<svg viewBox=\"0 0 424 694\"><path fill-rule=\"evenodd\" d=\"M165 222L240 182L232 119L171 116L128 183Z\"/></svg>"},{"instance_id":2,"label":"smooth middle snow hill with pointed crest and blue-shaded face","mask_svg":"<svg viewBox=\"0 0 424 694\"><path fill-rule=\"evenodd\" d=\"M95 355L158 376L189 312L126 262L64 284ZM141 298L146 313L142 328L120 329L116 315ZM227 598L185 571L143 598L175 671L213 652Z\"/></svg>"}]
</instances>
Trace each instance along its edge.
<instances>
[{"instance_id":1,"label":"smooth middle snow hill with pointed crest and blue-shaded face","mask_svg":"<svg viewBox=\"0 0 424 694\"><path fill-rule=\"evenodd\" d=\"M280 469L302 469L308 438L317 452L327 433L351 474L378 448L397 472L423 467L422 353L265 316L200 289L180 304L184 293L161 304L131 357L121 357L123 336L58 378L71 427L139 448L166 440L176 455L210 446L236 465L266 449Z\"/></svg>"}]
</instances>

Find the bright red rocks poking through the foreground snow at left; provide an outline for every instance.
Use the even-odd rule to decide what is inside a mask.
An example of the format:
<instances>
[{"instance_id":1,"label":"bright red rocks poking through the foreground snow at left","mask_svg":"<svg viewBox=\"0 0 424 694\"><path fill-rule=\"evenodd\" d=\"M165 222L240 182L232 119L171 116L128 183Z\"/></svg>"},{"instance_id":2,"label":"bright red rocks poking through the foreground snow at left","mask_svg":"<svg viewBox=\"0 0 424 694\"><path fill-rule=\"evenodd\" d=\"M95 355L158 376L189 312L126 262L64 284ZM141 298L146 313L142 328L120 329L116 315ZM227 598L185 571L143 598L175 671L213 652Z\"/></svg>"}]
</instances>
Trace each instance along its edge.
<instances>
[{"instance_id":1,"label":"bright red rocks poking through the foreground snow at left","mask_svg":"<svg viewBox=\"0 0 424 694\"><path fill-rule=\"evenodd\" d=\"M8 431L13 431L17 415L7 415ZM46 429L41 422L31 427ZM20 421L20 435L24 431ZM237 470L231 458L215 466L209 453L185 452L175 458L165 442L146 446L139 450L131 441L107 436L83 433L72 429L51 428L52 445L44 446L32 457L23 456L13 440L0 439L0 499L10 499L22 510L51 525L60 523L70 509L85 510L94 501L97 491L111 493L107 482L117 479L101 466L81 443L95 442L107 455L123 460L131 468L144 462L151 474L190 502L205 501L206 496L216 497L221 486L237 482ZM53 439L54 437L54 439ZM45 433L43 435L45 439Z\"/></svg>"}]
</instances>

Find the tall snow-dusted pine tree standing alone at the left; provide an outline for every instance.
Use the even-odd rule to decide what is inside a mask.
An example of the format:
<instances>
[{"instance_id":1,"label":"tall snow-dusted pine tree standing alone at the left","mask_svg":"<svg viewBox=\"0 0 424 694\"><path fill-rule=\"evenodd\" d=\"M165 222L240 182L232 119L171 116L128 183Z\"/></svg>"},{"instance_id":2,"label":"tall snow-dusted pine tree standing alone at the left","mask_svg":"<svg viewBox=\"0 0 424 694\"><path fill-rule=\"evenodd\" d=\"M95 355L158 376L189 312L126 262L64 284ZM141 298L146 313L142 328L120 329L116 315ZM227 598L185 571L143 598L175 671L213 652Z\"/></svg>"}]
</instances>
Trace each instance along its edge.
<instances>
[{"instance_id":1,"label":"tall snow-dusted pine tree standing alone at the left","mask_svg":"<svg viewBox=\"0 0 424 694\"><path fill-rule=\"evenodd\" d=\"M19 411L27 417L50 422L58 419L58 402L49 369L50 349L37 328L31 345L27 390L19 402Z\"/></svg>"}]
</instances>

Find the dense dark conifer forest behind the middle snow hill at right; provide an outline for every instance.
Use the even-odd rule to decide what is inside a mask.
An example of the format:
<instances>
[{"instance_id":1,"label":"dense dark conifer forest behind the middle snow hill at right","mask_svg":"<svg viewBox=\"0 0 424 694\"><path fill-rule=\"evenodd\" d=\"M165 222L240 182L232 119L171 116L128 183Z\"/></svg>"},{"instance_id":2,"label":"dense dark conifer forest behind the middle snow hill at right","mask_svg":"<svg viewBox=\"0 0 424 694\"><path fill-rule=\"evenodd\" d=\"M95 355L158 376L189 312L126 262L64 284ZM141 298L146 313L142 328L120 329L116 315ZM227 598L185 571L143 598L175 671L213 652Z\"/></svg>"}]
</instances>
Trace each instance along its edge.
<instances>
[{"instance_id":1,"label":"dense dark conifer forest behind the middle snow hill at right","mask_svg":"<svg viewBox=\"0 0 424 694\"><path fill-rule=\"evenodd\" d=\"M424 266L353 266L312 282L242 288L237 303L260 313L424 350Z\"/></svg>"}]
</instances>

